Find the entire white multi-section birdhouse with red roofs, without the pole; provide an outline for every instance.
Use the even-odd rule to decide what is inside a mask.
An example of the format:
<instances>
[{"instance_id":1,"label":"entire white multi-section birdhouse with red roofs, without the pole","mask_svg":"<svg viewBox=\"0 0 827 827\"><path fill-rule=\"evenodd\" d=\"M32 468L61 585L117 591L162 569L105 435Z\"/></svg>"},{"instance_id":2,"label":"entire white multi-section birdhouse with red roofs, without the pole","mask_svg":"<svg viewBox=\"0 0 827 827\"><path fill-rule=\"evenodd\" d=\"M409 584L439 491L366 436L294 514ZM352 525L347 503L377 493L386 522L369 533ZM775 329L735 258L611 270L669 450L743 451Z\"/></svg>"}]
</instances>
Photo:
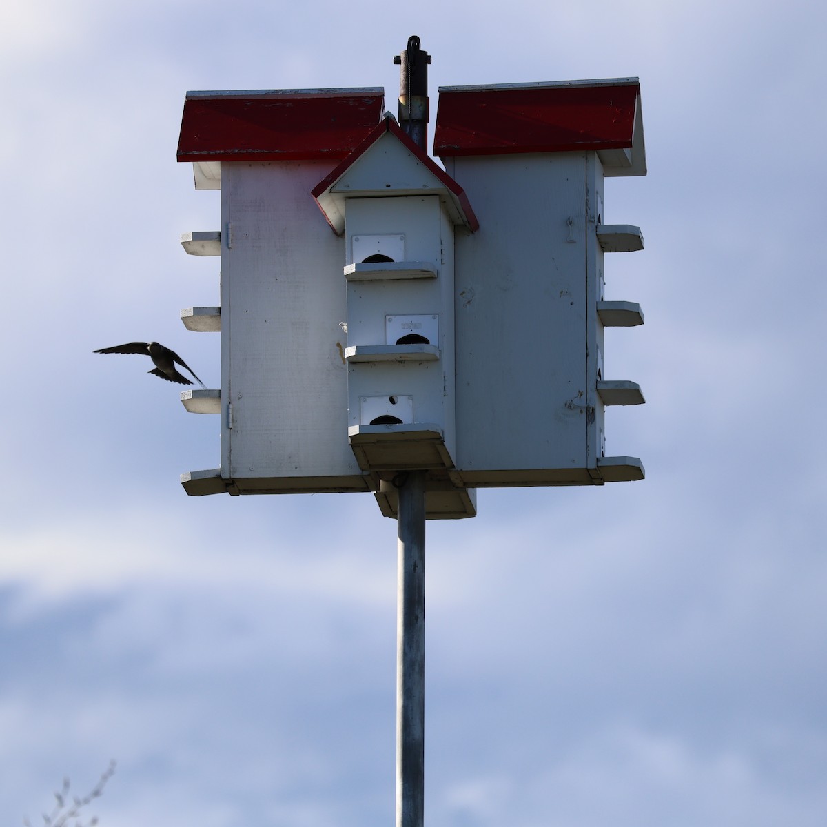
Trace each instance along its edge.
<instances>
[{"instance_id":1,"label":"entire white multi-section birdhouse with red roofs, without the pole","mask_svg":"<svg viewBox=\"0 0 827 827\"><path fill-rule=\"evenodd\" d=\"M371 491L394 515L427 471L429 518L476 513L476 486L639 480L609 456L605 410L640 404L607 373L606 176L645 174L637 79L440 89L434 152L381 89L189 93L179 160L221 189L221 222L182 239L220 256L221 466L189 494Z\"/></svg>"}]
</instances>

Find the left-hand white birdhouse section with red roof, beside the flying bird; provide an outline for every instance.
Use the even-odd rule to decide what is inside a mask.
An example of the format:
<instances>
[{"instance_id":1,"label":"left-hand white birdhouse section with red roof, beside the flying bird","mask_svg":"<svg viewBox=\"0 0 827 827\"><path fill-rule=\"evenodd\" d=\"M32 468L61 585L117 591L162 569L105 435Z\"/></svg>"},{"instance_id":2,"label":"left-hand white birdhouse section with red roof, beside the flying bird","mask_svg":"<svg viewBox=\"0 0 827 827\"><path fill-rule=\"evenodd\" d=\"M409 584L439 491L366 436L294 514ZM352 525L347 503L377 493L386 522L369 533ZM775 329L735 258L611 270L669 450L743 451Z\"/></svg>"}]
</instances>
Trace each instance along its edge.
<instances>
[{"instance_id":1,"label":"left-hand white birdhouse section with red roof, beside the flying bird","mask_svg":"<svg viewBox=\"0 0 827 827\"><path fill-rule=\"evenodd\" d=\"M188 494L377 487L347 442L345 241L310 190L383 112L380 88L187 94L178 159L221 189L221 223L182 244L220 256L221 306L182 318L220 330L222 357L221 467L184 475Z\"/></svg>"}]
</instances>

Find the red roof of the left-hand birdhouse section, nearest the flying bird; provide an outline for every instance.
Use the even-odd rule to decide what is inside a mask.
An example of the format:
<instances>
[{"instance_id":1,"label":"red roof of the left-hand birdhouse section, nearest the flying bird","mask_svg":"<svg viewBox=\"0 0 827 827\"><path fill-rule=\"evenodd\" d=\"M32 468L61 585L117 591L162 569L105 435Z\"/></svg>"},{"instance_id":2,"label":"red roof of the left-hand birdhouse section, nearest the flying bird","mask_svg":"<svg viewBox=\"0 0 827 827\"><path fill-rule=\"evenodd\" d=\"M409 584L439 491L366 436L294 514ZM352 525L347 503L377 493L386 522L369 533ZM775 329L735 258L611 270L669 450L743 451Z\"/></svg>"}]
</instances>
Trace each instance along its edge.
<instances>
[{"instance_id":1,"label":"red roof of the left-hand birdhouse section, nearest the flying bird","mask_svg":"<svg viewBox=\"0 0 827 827\"><path fill-rule=\"evenodd\" d=\"M178 160L340 160L384 111L381 87L188 92Z\"/></svg>"}]
</instances>

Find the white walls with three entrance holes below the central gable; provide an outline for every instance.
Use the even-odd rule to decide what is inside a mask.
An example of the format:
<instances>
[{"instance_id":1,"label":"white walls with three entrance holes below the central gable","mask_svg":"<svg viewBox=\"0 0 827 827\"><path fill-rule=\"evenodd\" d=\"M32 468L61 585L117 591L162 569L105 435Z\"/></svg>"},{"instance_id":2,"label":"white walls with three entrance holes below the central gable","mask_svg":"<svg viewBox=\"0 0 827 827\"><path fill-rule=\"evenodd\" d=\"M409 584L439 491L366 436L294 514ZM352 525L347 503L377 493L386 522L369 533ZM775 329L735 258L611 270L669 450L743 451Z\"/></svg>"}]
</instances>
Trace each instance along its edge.
<instances>
[{"instance_id":1,"label":"white walls with three entrance holes below the central gable","mask_svg":"<svg viewBox=\"0 0 827 827\"><path fill-rule=\"evenodd\" d=\"M347 198L346 203L347 261L362 268L347 276L348 424L396 425L401 431L431 423L452 457L452 222L436 194ZM380 246L384 252L375 253ZM401 258L382 261L388 253ZM378 270L366 272L366 265ZM390 265L399 269L381 269ZM395 404L399 397L412 400L409 416ZM390 400L390 408L380 417L366 417L366 399ZM414 457L409 463L420 461L428 462Z\"/></svg>"}]
</instances>

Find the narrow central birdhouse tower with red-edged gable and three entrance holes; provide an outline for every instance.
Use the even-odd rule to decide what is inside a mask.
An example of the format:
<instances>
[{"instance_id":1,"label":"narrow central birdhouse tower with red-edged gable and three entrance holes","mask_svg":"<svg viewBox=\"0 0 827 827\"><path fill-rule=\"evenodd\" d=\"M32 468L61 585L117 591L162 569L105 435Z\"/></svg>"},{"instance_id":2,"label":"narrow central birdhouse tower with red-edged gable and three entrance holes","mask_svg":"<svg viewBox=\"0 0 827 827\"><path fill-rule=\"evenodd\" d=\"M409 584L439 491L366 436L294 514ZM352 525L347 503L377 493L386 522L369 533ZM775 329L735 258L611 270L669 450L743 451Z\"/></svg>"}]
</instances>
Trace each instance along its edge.
<instances>
[{"instance_id":1,"label":"narrow central birdhouse tower with red-edged gable and three entrance holes","mask_svg":"<svg viewBox=\"0 0 827 827\"><path fill-rule=\"evenodd\" d=\"M347 437L363 471L429 471L474 513L455 474L454 233L476 230L464 192L385 117L313 189L345 238ZM449 485L452 483L452 485ZM452 510L456 510L452 508Z\"/></svg>"}]
</instances>

